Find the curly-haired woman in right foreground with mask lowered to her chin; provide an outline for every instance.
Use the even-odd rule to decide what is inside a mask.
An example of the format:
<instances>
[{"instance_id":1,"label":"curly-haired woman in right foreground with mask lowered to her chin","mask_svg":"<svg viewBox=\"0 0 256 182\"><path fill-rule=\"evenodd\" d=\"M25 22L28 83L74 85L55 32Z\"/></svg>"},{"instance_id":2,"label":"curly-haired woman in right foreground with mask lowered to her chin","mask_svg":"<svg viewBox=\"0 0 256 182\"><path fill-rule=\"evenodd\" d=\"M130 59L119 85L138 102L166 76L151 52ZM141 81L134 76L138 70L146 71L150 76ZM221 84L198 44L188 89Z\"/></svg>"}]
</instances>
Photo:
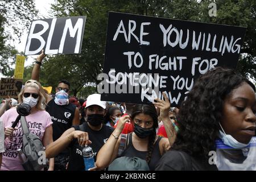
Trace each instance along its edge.
<instances>
[{"instance_id":1,"label":"curly-haired woman in right foreground with mask lowered to her chin","mask_svg":"<svg viewBox=\"0 0 256 182\"><path fill-rule=\"evenodd\" d=\"M256 129L255 86L231 69L214 68L198 78L177 121L179 132L156 170L210 170L209 152L216 151L216 139L242 148Z\"/></svg>"}]
</instances>

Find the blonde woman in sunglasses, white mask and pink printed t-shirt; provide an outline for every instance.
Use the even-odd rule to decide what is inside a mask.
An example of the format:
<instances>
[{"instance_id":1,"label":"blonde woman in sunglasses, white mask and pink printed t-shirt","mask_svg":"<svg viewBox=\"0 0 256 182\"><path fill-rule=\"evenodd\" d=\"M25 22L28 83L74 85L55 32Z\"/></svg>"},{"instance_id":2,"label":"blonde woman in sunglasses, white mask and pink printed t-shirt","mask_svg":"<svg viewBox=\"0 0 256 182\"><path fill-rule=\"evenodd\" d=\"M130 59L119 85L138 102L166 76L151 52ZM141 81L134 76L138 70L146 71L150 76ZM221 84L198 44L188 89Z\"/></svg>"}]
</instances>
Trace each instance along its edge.
<instances>
[{"instance_id":1,"label":"blonde woman in sunglasses, white mask and pink printed t-shirt","mask_svg":"<svg viewBox=\"0 0 256 182\"><path fill-rule=\"evenodd\" d=\"M19 103L31 106L31 114L26 116L28 130L42 140L44 147L52 143L52 121L51 117L44 109L46 106L43 92L40 92L39 83L29 82L19 93ZM1 170L24 170L22 160L19 159L17 150L22 147L22 127L20 122L13 129L11 125L15 121L18 113L16 108L7 110L1 117L5 127L5 146ZM48 170L53 170L54 159L49 160Z\"/></svg>"}]
</instances>

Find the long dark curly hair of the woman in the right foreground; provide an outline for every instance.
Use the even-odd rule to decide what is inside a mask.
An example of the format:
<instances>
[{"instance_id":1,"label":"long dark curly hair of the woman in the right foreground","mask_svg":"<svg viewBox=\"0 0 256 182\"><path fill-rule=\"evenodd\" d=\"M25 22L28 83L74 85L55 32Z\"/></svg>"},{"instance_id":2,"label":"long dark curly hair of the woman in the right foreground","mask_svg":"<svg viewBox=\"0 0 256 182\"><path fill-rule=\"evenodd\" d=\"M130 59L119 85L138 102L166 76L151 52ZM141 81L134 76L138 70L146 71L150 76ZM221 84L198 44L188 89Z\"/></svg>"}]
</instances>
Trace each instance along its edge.
<instances>
[{"instance_id":1,"label":"long dark curly hair of the woman in the right foreground","mask_svg":"<svg viewBox=\"0 0 256 182\"><path fill-rule=\"evenodd\" d=\"M215 150L224 100L233 89L246 82L255 92L255 86L232 69L214 68L201 75L177 115L179 132L172 146L196 158L208 159Z\"/></svg>"}]
</instances>

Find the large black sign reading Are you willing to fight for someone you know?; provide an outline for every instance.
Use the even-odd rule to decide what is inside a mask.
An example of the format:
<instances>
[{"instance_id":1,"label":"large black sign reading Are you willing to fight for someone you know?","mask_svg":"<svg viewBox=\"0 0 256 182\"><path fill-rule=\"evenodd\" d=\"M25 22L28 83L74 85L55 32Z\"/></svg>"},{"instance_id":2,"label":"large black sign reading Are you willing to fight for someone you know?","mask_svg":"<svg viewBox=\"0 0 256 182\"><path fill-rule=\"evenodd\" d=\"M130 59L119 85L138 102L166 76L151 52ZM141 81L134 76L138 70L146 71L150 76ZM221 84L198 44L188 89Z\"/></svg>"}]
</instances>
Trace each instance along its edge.
<instances>
[{"instance_id":1,"label":"large black sign reading Are you willing to fight for someone you know?","mask_svg":"<svg viewBox=\"0 0 256 182\"><path fill-rule=\"evenodd\" d=\"M195 79L214 67L236 68L245 27L109 13L105 101L148 104L166 92L179 105Z\"/></svg>"}]
</instances>

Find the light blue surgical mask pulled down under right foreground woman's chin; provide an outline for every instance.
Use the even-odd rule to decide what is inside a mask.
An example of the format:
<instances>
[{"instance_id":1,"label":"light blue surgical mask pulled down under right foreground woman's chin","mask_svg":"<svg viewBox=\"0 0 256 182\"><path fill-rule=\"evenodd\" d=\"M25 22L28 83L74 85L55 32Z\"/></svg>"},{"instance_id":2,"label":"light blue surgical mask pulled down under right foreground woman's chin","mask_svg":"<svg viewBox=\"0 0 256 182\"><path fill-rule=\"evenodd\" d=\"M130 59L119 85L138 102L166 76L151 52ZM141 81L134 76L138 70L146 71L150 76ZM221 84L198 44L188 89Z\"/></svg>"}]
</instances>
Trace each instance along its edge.
<instances>
[{"instance_id":1,"label":"light blue surgical mask pulled down under right foreground woman's chin","mask_svg":"<svg viewBox=\"0 0 256 182\"><path fill-rule=\"evenodd\" d=\"M219 123L219 124L220 124L220 123ZM250 144L250 142L249 142L249 143L241 143L241 142L238 142L236 139L234 139L234 138L232 137L232 135L227 135L227 134L225 133L225 131L223 130L221 124L220 124L220 127L221 127L221 130L223 131L223 132L222 132L222 131L220 130L220 138L221 138L221 140L223 141L223 143L226 144L227 146L230 146L230 147L236 148L236 149L241 149L241 148L247 147L247 146Z\"/></svg>"}]
</instances>

